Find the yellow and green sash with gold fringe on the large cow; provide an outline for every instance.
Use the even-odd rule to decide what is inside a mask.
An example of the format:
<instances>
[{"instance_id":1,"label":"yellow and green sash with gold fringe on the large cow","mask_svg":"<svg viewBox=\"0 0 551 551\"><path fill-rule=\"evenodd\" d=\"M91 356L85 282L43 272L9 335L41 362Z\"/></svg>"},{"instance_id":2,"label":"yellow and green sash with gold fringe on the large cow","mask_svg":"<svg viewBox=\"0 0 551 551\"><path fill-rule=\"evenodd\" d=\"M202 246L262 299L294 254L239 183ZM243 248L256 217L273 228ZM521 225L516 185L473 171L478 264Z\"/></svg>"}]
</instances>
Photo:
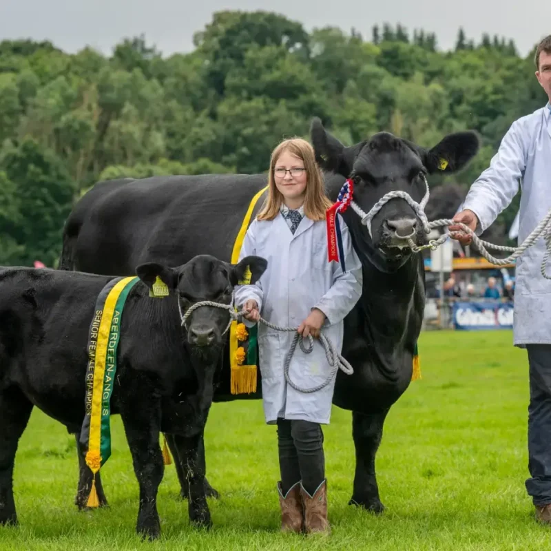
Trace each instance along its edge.
<instances>
[{"instance_id":1,"label":"yellow and green sash with gold fringe on the large cow","mask_svg":"<svg viewBox=\"0 0 551 551\"><path fill-rule=\"evenodd\" d=\"M264 194L268 186L260 189L252 198L247 209L247 214L243 218L236 242L233 244L231 253L231 263L237 264L239 253L245 239L245 233L249 229L249 223L253 215L254 207L258 199ZM245 278L239 282L240 285L247 285L251 282L251 272L247 270ZM256 392L257 378L257 333L258 325L247 329L245 324L231 322L229 327L229 364L231 366L231 394L244 394Z\"/></svg>"}]
</instances>

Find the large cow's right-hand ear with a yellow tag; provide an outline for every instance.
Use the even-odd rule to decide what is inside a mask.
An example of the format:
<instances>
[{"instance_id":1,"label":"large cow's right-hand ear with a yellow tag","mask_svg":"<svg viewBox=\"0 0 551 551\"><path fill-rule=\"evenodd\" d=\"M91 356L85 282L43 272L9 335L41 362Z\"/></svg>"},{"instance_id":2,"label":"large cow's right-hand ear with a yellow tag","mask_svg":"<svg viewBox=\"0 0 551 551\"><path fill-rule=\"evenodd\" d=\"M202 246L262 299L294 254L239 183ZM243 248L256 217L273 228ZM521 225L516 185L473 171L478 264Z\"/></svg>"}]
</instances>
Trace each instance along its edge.
<instances>
[{"instance_id":1,"label":"large cow's right-hand ear with a yellow tag","mask_svg":"<svg viewBox=\"0 0 551 551\"><path fill-rule=\"evenodd\" d=\"M422 149L422 160L429 174L451 174L461 170L478 153L480 141L475 132L448 134L433 149Z\"/></svg>"}]
</instances>

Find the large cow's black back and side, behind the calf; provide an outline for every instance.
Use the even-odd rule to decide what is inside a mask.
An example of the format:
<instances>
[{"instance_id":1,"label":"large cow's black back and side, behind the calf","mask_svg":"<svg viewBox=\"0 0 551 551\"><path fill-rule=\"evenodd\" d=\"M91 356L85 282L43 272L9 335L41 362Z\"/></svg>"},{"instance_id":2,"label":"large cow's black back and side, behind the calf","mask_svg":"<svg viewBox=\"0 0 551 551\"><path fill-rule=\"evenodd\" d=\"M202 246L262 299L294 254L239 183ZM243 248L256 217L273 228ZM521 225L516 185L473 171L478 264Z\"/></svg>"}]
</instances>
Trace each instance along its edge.
<instances>
[{"instance_id":1,"label":"large cow's black back and side, behind the calf","mask_svg":"<svg viewBox=\"0 0 551 551\"><path fill-rule=\"evenodd\" d=\"M130 275L142 262L178 266L205 252L230 260L251 198L265 185L264 175L235 174L99 183L67 220L61 267Z\"/></svg>"}]
</instances>

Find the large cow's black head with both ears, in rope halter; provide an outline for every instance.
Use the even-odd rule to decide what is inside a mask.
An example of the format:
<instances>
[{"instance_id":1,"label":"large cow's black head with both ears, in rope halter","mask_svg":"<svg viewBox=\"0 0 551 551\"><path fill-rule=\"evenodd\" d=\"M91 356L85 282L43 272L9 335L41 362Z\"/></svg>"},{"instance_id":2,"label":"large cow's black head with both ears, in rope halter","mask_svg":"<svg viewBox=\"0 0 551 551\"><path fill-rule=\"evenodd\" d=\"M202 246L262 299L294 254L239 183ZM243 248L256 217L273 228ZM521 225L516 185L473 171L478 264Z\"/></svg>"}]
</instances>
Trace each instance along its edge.
<instances>
[{"instance_id":1,"label":"large cow's black head with both ears, in rope halter","mask_svg":"<svg viewBox=\"0 0 551 551\"><path fill-rule=\"evenodd\" d=\"M388 132L379 132L368 140L345 147L326 132L319 118L313 119L311 141L322 169L353 178L353 199L365 213L390 191L404 191L415 202L422 202L426 176L458 171L479 148L474 132L450 134L432 149L424 149ZM411 250L404 237L409 236L418 246L426 244L423 222L404 198L392 198L384 203L371 220L371 231L360 225L360 217L351 209L344 216L355 243L383 271L406 262Z\"/></svg>"}]
</instances>

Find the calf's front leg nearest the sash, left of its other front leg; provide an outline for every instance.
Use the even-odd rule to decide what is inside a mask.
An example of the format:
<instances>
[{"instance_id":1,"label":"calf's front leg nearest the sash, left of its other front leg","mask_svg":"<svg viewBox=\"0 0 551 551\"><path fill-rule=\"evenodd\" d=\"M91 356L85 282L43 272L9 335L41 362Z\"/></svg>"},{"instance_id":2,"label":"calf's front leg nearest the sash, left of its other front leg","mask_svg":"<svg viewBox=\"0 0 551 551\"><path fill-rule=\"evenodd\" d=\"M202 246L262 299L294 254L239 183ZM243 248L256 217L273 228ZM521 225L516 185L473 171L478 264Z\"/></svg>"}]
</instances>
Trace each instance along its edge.
<instances>
[{"instance_id":1,"label":"calf's front leg nearest the sash, left of its other front leg","mask_svg":"<svg viewBox=\"0 0 551 551\"><path fill-rule=\"evenodd\" d=\"M121 417L140 487L136 532L156 539L160 536L157 492L165 468L159 446L160 408L151 396L129 394L132 396L123 402Z\"/></svg>"}]
</instances>

